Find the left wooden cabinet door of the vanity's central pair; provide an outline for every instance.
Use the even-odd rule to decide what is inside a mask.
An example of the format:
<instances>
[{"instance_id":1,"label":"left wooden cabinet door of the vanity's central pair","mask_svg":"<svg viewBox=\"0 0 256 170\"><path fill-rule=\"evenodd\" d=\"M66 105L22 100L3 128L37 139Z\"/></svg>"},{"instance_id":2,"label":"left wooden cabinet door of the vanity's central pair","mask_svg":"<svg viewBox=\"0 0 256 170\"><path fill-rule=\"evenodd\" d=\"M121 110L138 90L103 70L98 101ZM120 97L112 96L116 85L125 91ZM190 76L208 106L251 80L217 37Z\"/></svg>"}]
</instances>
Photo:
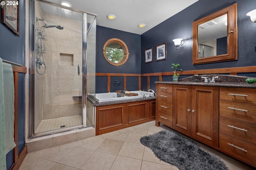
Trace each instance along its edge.
<instances>
[{"instance_id":1,"label":"left wooden cabinet door of the vanity's central pair","mask_svg":"<svg viewBox=\"0 0 256 170\"><path fill-rule=\"evenodd\" d=\"M173 129L191 135L191 86L173 85Z\"/></svg>"}]
</instances>

